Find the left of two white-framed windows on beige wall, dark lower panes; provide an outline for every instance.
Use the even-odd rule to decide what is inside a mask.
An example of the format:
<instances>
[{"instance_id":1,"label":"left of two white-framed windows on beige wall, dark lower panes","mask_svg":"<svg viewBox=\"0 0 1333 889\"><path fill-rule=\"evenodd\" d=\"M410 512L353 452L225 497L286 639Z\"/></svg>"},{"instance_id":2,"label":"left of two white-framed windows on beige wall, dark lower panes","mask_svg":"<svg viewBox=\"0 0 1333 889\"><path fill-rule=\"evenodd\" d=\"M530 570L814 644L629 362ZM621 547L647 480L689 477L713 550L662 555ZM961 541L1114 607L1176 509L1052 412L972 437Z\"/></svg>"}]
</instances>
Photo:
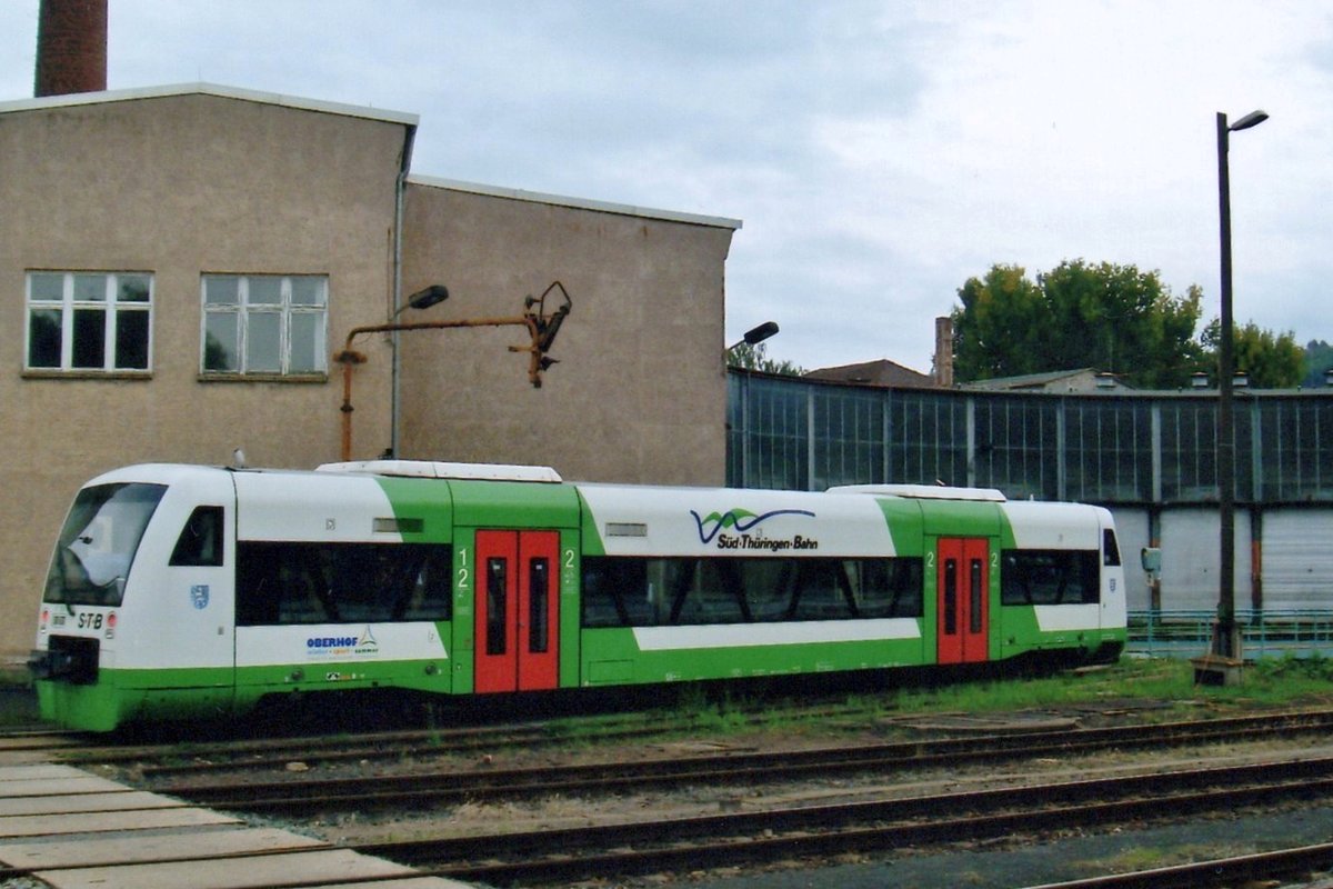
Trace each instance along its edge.
<instances>
[{"instance_id":1,"label":"left of two white-framed windows on beige wall, dark lower panes","mask_svg":"<svg viewBox=\"0 0 1333 889\"><path fill-rule=\"evenodd\" d=\"M29 371L149 371L153 276L28 272Z\"/></svg>"}]
</instances>

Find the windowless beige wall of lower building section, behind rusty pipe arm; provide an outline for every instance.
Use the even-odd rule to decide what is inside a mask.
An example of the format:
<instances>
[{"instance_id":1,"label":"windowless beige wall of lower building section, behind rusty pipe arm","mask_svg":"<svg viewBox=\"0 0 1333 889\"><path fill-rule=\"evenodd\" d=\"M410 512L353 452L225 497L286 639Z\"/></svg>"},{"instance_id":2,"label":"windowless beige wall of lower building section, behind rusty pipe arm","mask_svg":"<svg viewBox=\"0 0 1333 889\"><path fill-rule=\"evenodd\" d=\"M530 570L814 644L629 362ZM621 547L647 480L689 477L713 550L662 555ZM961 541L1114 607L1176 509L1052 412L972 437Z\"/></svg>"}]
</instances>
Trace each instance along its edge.
<instances>
[{"instance_id":1,"label":"windowless beige wall of lower building section, behind rusty pipe arm","mask_svg":"<svg viewBox=\"0 0 1333 889\"><path fill-rule=\"evenodd\" d=\"M737 225L413 179L404 291L443 283L452 296L412 320L517 316L553 280L573 311L540 389L527 355L507 351L527 344L523 328L404 335L400 456L722 484L722 271Z\"/></svg>"}]
</instances>

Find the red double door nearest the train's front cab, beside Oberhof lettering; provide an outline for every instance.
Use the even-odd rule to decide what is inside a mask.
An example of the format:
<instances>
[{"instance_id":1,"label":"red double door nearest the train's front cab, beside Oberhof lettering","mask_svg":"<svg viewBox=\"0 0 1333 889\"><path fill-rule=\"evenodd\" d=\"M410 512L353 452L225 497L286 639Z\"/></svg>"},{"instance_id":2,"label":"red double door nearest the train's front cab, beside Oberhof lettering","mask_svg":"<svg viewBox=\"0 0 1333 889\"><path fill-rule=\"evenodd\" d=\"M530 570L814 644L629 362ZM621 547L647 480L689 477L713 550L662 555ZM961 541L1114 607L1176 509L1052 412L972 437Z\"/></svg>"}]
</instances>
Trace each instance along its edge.
<instances>
[{"instance_id":1,"label":"red double door nearest the train's front cab, beside Oberhof lettering","mask_svg":"<svg viewBox=\"0 0 1333 889\"><path fill-rule=\"evenodd\" d=\"M560 534L479 530L477 692L556 688Z\"/></svg>"}]
</instances>

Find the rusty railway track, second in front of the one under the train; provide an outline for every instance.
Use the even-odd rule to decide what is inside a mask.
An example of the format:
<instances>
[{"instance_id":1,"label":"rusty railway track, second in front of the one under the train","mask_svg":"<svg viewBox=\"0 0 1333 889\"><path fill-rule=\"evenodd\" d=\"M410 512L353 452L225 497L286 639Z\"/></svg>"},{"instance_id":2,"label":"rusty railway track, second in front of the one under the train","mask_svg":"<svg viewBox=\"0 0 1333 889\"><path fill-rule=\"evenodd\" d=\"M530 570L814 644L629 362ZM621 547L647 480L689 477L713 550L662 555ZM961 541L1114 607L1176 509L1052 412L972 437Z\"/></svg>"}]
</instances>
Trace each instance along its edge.
<instances>
[{"instance_id":1,"label":"rusty railway track, second in front of the one under the train","mask_svg":"<svg viewBox=\"0 0 1333 889\"><path fill-rule=\"evenodd\" d=\"M1265 762L1026 788L668 821L357 846L427 873L493 885L754 866L958 840L1034 837L1333 796L1333 760ZM1320 860L1320 853L1310 853ZM1121 884L1088 882L1118 886ZM1157 886L1158 882L1122 885ZM1172 885L1198 885L1172 884Z\"/></svg>"}]
</instances>

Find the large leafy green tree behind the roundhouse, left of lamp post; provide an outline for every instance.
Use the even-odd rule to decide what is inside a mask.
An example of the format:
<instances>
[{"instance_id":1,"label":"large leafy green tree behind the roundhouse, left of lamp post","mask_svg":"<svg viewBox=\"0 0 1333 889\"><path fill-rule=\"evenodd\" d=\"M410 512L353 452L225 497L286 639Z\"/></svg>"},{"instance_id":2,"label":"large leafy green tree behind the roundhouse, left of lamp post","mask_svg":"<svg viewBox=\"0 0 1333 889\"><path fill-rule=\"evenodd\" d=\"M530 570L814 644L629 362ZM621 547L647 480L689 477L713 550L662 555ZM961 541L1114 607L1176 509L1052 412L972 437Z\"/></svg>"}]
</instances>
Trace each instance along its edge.
<instances>
[{"instance_id":1,"label":"large leafy green tree behind the roundhouse, left of lamp post","mask_svg":"<svg viewBox=\"0 0 1333 889\"><path fill-rule=\"evenodd\" d=\"M1202 292L1172 295L1157 272L1064 261L1030 281L1016 265L969 279L953 311L960 381L1097 368L1141 388L1177 388L1204 360Z\"/></svg>"}]
</instances>

